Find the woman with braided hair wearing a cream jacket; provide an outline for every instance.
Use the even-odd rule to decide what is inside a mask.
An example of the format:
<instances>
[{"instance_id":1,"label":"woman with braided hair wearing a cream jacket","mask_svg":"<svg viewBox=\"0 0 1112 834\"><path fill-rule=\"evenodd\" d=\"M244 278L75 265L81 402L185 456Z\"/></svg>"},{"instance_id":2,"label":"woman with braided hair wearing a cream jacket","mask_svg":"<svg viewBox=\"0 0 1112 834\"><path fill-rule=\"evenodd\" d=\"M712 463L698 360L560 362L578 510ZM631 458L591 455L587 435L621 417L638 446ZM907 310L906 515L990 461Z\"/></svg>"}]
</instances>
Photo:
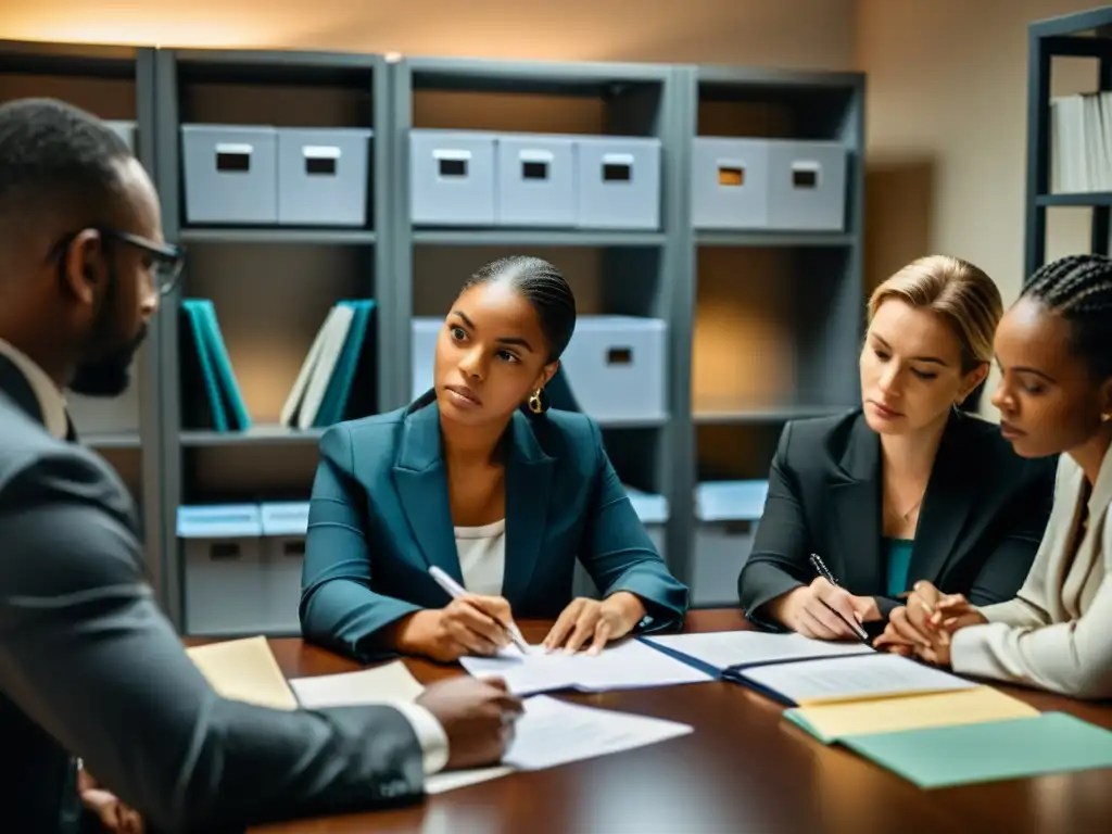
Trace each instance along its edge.
<instances>
[{"instance_id":1,"label":"woman with braided hair wearing a cream jacket","mask_svg":"<svg viewBox=\"0 0 1112 834\"><path fill-rule=\"evenodd\" d=\"M1112 259L1046 265L996 329L993 404L1024 457L1062 453L1054 508L1026 582L981 608L917 583L877 638L955 672L1112 697Z\"/></svg>"}]
</instances>

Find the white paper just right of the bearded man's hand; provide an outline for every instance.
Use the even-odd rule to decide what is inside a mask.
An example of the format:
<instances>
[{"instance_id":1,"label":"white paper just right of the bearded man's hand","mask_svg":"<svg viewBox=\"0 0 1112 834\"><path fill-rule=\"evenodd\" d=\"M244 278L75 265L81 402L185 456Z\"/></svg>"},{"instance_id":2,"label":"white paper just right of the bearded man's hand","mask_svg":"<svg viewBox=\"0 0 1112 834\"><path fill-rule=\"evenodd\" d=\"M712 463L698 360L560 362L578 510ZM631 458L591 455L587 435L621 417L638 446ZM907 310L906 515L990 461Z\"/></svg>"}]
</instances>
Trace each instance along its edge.
<instances>
[{"instance_id":1,"label":"white paper just right of the bearded man's hand","mask_svg":"<svg viewBox=\"0 0 1112 834\"><path fill-rule=\"evenodd\" d=\"M568 704L547 695L536 695L525 701L525 714L517 722L514 741L502 765L436 774L426 780L425 791L443 793L515 771L542 771L658 744L692 731L689 725L673 721Z\"/></svg>"}]
</instances>

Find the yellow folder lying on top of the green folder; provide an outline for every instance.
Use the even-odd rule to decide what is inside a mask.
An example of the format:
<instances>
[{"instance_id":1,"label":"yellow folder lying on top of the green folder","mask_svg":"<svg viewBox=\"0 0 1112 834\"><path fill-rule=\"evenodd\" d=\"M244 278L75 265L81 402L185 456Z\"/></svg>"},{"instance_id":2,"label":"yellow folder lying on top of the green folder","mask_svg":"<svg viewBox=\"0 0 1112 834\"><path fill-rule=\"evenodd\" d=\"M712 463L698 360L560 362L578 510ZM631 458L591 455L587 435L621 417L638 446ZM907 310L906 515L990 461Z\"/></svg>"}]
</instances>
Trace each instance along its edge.
<instances>
[{"instance_id":1,"label":"yellow folder lying on top of the green folder","mask_svg":"<svg viewBox=\"0 0 1112 834\"><path fill-rule=\"evenodd\" d=\"M825 744L850 736L984 724L1039 715L1033 706L991 686L795 707L784 717Z\"/></svg>"}]
</instances>

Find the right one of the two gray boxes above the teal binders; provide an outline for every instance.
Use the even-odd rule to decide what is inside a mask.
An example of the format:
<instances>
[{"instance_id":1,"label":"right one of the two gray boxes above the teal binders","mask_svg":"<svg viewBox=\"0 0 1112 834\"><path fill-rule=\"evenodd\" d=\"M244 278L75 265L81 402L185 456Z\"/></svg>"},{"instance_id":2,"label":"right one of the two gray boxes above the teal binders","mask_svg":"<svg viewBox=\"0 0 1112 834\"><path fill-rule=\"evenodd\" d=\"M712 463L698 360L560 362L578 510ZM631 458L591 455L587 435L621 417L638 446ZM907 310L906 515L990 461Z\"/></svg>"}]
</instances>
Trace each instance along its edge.
<instances>
[{"instance_id":1,"label":"right one of the two gray boxes above the teal binders","mask_svg":"<svg viewBox=\"0 0 1112 834\"><path fill-rule=\"evenodd\" d=\"M366 226L371 131L278 130L278 222Z\"/></svg>"}]
</instances>

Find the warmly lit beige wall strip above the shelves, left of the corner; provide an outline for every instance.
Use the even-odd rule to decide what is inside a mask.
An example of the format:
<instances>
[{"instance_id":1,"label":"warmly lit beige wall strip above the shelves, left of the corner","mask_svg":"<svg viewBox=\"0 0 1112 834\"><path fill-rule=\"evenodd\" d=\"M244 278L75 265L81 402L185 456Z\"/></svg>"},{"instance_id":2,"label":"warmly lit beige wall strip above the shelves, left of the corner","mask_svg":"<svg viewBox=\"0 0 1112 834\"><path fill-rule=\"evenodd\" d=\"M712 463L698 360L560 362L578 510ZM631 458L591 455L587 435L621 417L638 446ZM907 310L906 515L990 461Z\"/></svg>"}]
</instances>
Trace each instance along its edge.
<instances>
[{"instance_id":1,"label":"warmly lit beige wall strip above the shelves, left of the corner","mask_svg":"<svg viewBox=\"0 0 1112 834\"><path fill-rule=\"evenodd\" d=\"M0 36L846 68L854 0L3 0Z\"/></svg>"}]
</instances>

